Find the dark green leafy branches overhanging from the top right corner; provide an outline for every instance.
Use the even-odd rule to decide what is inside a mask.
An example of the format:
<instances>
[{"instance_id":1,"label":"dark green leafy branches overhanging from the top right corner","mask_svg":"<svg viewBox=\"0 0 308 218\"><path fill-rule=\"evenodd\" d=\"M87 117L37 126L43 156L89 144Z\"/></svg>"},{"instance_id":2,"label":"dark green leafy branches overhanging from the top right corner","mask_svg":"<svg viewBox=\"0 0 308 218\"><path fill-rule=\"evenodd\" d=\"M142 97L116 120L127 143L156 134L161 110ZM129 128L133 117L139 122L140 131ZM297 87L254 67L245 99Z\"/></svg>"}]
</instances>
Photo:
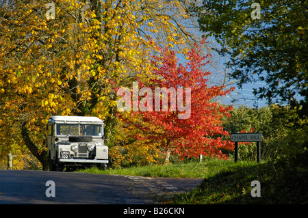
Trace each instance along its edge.
<instances>
[{"instance_id":1,"label":"dark green leafy branches overhanging from the top right corner","mask_svg":"<svg viewBox=\"0 0 308 218\"><path fill-rule=\"evenodd\" d=\"M219 52L229 57L227 66L238 85L266 81L255 90L259 98L301 105L307 114L308 1L260 1L259 17L253 3L208 0L190 10L201 31L221 44ZM303 96L299 103L296 94Z\"/></svg>"}]
</instances>

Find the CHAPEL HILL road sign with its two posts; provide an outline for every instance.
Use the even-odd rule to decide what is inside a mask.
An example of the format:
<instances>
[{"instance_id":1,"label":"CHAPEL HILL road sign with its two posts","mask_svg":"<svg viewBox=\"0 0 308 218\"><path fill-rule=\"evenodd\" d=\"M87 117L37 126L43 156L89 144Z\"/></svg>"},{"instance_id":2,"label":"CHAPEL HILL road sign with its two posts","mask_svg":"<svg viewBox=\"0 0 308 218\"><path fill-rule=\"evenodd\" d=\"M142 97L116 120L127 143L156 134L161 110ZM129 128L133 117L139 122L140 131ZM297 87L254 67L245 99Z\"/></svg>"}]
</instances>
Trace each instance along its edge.
<instances>
[{"instance_id":1,"label":"CHAPEL HILL road sign with its two posts","mask_svg":"<svg viewBox=\"0 0 308 218\"><path fill-rule=\"evenodd\" d=\"M231 134L231 141L235 142L235 162L238 161L238 142L257 141L257 162L260 162L262 133L233 133Z\"/></svg>"}]
</instances>

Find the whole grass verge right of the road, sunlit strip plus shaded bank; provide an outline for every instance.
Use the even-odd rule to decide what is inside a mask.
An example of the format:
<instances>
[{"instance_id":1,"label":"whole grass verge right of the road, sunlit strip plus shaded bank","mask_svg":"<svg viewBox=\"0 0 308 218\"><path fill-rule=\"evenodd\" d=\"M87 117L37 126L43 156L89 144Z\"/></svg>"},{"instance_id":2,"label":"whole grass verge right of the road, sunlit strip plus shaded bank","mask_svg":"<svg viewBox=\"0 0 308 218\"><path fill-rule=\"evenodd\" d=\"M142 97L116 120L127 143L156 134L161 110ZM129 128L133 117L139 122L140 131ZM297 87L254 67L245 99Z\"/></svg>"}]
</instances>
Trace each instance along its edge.
<instances>
[{"instance_id":1,"label":"whole grass verge right of the road, sunlit strip plus shaded bank","mask_svg":"<svg viewBox=\"0 0 308 218\"><path fill-rule=\"evenodd\" d=\"M176 195L164 204L308 204L307 165L287 161L222 161L149 165L123 169L84 169L92 174L203 178L200 187ZM252 197L251 182L261 183L261 197Z\"/></svg>"}]
</instances>

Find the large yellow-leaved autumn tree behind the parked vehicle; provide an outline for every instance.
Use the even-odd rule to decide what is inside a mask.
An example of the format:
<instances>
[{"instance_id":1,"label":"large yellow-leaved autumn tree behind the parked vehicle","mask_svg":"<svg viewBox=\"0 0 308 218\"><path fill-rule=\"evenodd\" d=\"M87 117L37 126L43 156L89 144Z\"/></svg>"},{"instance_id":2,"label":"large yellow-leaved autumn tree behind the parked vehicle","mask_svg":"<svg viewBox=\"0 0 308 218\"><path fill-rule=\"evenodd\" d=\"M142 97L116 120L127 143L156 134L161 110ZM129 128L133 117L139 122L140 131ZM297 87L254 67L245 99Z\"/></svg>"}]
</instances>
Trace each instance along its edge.
<instances>
[{"instance_id":1,"label":"large yellow-leaved autumn tree behind the parked vehicle","mask_svg":"<svg viewBox=\"0 0 308 218\"><path fill-rule=\"evenodd\" d=\"M50 115L95 115L109 139L114 87L153 77L156 44L185 48L186 18L179 1L1 1L1 138L23 139L44 169Z\"/></svg>"}]
</instances>

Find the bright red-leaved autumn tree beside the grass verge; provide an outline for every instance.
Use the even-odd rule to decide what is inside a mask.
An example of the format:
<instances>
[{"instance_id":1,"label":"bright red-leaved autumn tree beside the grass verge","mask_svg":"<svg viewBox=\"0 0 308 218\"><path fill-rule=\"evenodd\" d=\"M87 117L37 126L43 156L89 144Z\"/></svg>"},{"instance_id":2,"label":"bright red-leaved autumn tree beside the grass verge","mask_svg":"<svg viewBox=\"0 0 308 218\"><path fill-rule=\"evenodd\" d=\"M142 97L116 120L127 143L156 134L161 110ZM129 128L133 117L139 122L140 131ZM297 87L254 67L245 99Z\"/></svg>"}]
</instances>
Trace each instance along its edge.
<instances>
[{"instance_id":1,"label":"bright red-leaved autumn tree beside the grass verge","mask_svg":"<svg viewBox=\"0 0 308 218\"><path fill-rule=\"evenodd\" d=\"M199 154L225 158L222 149L232 150L233 144L222 140L222 135L229 133L224 131L221 119L229 115L231 107L218 105L215 98L232 89L207 85L210 72L202 67L210 55L202 57L197 44L187 53L185 66L178 63L174 51L165 48L160 52L153 57L153 73L159 79L151 80L151 84L146 84L148 87L140 81L133 92L118 90L118 108L126 111L120 113L139 130L133 137L146 144L158 142L166 151L166 162L170 152L179 154L182 159Z\"/></svg>"}]
</instances>

